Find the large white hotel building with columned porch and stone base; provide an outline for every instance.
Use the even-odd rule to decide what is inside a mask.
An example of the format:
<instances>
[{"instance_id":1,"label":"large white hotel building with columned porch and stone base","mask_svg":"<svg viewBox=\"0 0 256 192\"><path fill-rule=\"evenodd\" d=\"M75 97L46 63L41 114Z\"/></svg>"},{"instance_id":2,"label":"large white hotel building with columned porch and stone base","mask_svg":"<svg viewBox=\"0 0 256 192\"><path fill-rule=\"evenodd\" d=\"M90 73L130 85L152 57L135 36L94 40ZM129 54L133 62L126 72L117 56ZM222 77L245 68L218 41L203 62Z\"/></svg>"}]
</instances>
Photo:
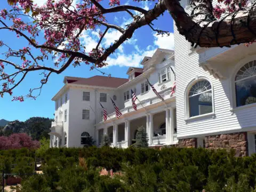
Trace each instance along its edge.
<instances>
[{"instance_id":1,"label":"large white hotel building with columned porch and stone base","mask_svg":"<svg viewBox=\"0 0 256 192\"><path fill-rule=\"evenodd\" d=\"M180 3L191 12L188 1ZM149 146L234 148L237 156L255 153L256 43L193 49L174 25L174 45L175 57L172 50L157 49L142 60L143 68L128 69L129 79L65 77L52 99L56 107L51 147L82 147L88 134L97 145L108 134L113 146L127 147L143 125ZM171 96L174 81L177 89ZM131 89L141 102L137 111ZM109 97L121 109L121 118L116 118ZM108 111L106 122L99 101Z\"/></svg>"}]
</instances>

